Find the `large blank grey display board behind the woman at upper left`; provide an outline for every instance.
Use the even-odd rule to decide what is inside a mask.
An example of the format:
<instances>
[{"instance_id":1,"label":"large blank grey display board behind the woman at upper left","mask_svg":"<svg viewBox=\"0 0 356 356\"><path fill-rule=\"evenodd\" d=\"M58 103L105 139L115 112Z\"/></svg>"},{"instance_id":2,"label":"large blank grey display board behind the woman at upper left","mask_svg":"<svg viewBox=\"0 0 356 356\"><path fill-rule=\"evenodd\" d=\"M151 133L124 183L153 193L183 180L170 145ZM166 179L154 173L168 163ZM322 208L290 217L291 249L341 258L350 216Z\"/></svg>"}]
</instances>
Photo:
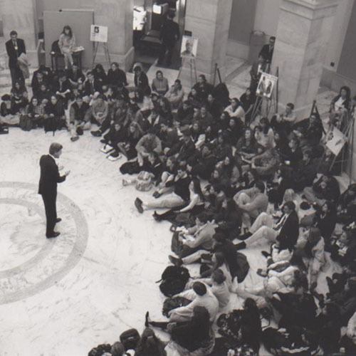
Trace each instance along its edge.
<instances>
[{"instance_id":1,"label":"large blank grey display board behind the woman at upper left","mask_svg":"<svg viewBox=\"0 0 356 356\"><path fill-rule=\"evenodd\" d=\"M90 26L94 23L94 11L84 9L63 9L63 11L44 11L43 29L46 48L46 64L51 66L51 46L58 40L63 27L72 28L77 46L83 46L83 68L90 68L93 61L93 42L90 42Z\"/></svg>"}]
</instances>

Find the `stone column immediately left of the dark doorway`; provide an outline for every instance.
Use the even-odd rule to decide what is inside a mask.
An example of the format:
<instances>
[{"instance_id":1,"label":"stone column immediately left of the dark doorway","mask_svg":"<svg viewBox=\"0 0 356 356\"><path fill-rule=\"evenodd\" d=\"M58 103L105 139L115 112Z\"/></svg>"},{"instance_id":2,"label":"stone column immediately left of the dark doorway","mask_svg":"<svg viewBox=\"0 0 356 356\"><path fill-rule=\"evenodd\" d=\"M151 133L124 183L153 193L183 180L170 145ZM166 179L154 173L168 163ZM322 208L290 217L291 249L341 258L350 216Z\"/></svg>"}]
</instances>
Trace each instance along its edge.
<instances>
[{"instance_id":1,"label":"stone column immediately left of the dark doorway","mask_svg":"<svg viewBox=\"0 0 356 356\"><path fill-rule=\"evenodd\" d=\"M110 60L122 70L129 70L134 58L132 46L133 0L96 0L95 24L108 26ZM103 52L103 51L102 51ZM98 53L98 62L104 63L104 53Z\"/></svg>"}]
</instances>

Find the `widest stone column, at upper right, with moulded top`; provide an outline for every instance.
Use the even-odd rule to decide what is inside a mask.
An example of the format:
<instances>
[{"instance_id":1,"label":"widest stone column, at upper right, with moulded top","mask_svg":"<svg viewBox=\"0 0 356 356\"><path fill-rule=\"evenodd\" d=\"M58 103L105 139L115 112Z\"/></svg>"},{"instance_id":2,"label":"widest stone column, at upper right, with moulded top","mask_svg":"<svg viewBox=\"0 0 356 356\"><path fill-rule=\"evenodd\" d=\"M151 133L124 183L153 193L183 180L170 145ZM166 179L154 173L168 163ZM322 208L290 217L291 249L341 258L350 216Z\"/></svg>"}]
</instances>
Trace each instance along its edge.
<instances>
[{"instance_id":1,"label":"widest stone column, at upper right, with moulded top","mask_svg":"<svg viewBox=\"0 0 356 356\"><path fill-rule=\"evenodd\" d=\"M339 0L282 0L272 71L279 67L279 103L309 115L318 94Z\"/></svg>"}]
</instances>

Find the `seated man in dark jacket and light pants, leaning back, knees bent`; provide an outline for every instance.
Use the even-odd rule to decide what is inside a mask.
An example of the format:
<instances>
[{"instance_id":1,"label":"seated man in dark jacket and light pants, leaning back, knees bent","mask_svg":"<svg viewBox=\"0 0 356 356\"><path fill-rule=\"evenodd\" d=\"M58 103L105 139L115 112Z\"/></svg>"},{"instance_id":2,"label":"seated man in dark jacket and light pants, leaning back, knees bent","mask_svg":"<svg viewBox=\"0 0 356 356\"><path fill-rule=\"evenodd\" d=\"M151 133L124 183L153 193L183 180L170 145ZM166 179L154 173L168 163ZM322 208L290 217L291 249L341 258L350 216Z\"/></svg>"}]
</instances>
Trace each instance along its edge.
<instances>
[{"instance_id":1,"label":"seated man in dark jacket and light pants, leaning back, knees bent","mask_svg":"<svg viewBox=\"0 0 356 356\"><path fill-rule=\"evenodd\" d=\"M274 226L272 216L261 213L252 224L250 232L239 237L244 241L236 244L236 249L241 250L261 239L274 242L277 238L284 246L293 248L299 236L299 219L293 201L287 201L283 205L282 211L283 215Z\"/></svg>"}]
</instances>

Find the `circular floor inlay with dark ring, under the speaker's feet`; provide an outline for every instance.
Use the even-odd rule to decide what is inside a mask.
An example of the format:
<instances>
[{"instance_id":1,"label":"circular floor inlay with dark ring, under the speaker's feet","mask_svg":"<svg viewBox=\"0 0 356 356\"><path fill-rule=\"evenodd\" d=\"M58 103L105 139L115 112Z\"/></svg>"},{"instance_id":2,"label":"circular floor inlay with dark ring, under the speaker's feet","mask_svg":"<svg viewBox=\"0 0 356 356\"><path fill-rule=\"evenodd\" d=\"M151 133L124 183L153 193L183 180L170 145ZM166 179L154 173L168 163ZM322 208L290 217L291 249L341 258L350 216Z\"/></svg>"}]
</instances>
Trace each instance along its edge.
<instances>
[{"instance_id":1,"label":"circular floor inlay with dark ring, under the speaker's feet","mask_svg":"<svg viewBox=\"0 0 356 356\"><path fill-rule=\"evenodd\" d=\"M61 236L44 236L46 219L37 185L0 182L0 304L53 286L83 255L88 224L79 207L58 194Z\"/></svg>"}]
</instances>

